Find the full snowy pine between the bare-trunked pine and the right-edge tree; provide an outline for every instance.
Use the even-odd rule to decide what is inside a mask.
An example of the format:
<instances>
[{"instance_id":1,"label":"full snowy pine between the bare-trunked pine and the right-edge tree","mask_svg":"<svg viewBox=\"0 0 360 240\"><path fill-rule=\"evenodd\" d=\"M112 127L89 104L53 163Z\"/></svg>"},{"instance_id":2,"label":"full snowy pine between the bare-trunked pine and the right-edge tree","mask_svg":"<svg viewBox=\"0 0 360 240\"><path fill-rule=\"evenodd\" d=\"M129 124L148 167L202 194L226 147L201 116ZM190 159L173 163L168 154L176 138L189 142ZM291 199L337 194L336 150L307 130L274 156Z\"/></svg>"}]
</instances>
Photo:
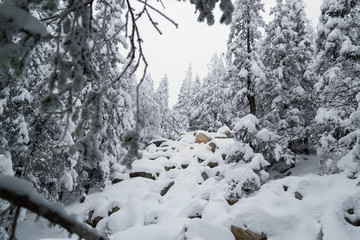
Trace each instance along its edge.
<instances>
[{"instance_id":1,"label":"full snowy pine between the bare-trunked pine and the right-edge tree","mask_svg":"<svg viewBox=\"0 0 360 240\"><path fill-rule=\"evenodd\" d=\"M265 124L293 151L308 151L314 117L310 63L313 38L302 1L278 0L266 28L264 64L267 87L262 100ZM270 101L269 101L270 99Z\"/></svg>"}]
</instances>

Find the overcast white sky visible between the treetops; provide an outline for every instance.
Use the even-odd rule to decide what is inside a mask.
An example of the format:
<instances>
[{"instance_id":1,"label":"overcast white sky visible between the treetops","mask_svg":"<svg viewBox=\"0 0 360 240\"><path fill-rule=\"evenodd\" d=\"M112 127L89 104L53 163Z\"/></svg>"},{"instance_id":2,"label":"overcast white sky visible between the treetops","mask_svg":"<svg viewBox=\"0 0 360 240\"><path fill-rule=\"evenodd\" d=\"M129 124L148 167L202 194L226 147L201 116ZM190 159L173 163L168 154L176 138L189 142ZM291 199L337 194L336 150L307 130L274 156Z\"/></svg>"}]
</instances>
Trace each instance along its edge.
<instances>
[{"instance_id":1,"label":"overcast white sky visible between the treetops","mask_svg":"<svg viewBox=\"0 0 360 240\"><path fill-rule=\"evenodd\" d=\"M191 62L194 76L198 73L202 80L207 74L207 64L211 56L214 53L226 52L229 27L218 23L220 13L217 14L213 26L197 22L195 7L189 1L163 0L163 2L164 13L177 22L179 28L176 29L167 20L158 17L155 20L159 22L163 34L159 35L147 21L142 24L141 34L144 40L144 53L149 63L148 72L155 81L155 88L161 78L167 74L170 88L169 105L173 106L177 101L189 63ZM267 12L270 6L275 4L275 0L263 0L263 2ZM306 12L314 26L318 22L321 3L322 0L305 0ZM153 16L155 17L156 14L154 13ZM266 21L269 19L267 18Z\"/></svg>"}]
</instances>

